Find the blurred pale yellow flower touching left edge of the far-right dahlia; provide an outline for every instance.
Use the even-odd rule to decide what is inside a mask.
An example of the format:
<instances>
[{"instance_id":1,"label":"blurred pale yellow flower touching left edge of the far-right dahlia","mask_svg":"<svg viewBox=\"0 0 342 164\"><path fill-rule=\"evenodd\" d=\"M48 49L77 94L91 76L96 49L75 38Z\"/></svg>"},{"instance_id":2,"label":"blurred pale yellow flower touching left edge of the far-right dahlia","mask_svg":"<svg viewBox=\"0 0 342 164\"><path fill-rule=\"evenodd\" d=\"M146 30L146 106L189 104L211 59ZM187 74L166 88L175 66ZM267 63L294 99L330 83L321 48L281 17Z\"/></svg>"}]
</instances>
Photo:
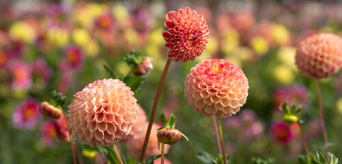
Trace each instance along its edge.
<instances>
[{"instance_id":1,"label":"blurred pale yellow flower touching left edge of the far-right dahlia","mask_svg":"<svg viewBox=\"0 0 342 164\"><path fill-rule=\"evenodd\" d=\"M285 46L280 48L277 54L279 61L289 66L292 70L297 70L295 66L295 50L293 46Z\"/></svg>"}]
</instances>

